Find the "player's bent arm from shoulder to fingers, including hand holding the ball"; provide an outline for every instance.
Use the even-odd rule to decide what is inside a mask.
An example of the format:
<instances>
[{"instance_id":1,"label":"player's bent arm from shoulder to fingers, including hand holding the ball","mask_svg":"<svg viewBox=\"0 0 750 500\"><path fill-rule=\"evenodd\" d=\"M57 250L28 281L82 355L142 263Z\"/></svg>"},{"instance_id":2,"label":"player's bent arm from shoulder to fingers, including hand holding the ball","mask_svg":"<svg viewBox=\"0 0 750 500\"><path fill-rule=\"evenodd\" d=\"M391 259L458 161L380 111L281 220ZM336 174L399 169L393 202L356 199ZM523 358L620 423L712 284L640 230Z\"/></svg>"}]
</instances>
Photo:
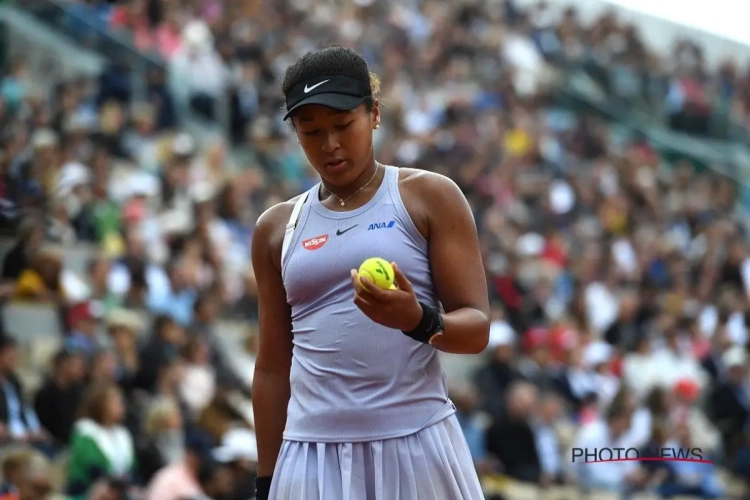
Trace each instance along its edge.
<instances>
[{"instance_id":1,"label":"player's bent arm from shoulder to fingers, including hand holding the ball","mask_svg":"<svg viewBox=\"0 0 750 500\"><path fill-rule=\"evenodd\" d=\"M489 340L489 300L469 204L458 186L442 175L404 169L400 183L406 209L429 242L432 281L445 309L442 333L434 334L439 313L420 305L398 263L393 266L394 290L380 289L352 269L354 303L371 320L419 342L430 335L430 344L441 351L480 353Z\"/></svg>"}]
</instances>

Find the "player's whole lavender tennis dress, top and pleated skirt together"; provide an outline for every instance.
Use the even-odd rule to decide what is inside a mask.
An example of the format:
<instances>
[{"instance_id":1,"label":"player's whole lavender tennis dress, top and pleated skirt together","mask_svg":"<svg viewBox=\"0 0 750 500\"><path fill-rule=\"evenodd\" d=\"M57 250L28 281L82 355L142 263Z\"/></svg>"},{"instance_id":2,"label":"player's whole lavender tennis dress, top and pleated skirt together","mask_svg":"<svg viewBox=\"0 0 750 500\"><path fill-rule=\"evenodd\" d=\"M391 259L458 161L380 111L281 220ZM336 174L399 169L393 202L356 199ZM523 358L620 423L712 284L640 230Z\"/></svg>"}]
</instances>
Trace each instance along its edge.
<instances>
[{"instance_id":1,"label":"player's whole lavender tennis dress, top and pleated skirt together","mask_svg":"<svg viewBox=\"0 0 750 500\"><path fill-rule=\"evenodd\" d=\"M350 270L377 256L438 305L427 242L401 200L398 169L385 169L372 199L348 212L325 208L315 186L283 256L294 349L271 500L484 498L438 351L353 303Z\"/></svg>"}]
</instances>

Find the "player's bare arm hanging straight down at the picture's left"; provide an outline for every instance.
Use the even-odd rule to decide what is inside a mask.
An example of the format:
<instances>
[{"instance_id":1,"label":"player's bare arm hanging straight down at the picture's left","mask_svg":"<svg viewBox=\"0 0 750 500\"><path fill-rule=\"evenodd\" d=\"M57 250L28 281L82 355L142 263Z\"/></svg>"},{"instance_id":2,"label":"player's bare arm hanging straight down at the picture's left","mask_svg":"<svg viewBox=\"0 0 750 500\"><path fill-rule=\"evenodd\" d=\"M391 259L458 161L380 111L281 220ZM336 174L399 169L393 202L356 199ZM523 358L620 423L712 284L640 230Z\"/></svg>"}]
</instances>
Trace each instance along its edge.
<instances>
[{"instance_id":1,"label":"player's bare arm hanging straight down at the picture's left","mask_svg":"<svg viewBox=\"0 0 750 500\"><path fill-rule=\"evenodd\" d=\"M289 404L292 319L281 279L281 244L292 205L277 205L260 216L252 243L258 282L259 345L253 378L258 437L258 476L272 476L281 449Z\"/></svg>"}]
</instances>

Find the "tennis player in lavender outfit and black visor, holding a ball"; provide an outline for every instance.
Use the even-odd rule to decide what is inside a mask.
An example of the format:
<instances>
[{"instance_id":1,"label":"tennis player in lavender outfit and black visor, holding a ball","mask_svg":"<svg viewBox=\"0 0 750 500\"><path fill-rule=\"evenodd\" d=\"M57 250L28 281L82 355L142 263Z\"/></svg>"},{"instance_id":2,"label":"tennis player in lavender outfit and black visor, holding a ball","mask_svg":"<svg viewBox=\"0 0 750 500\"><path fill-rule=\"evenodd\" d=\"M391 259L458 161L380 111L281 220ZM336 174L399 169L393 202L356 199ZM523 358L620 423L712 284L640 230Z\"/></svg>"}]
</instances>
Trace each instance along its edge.
<instances>
[{"instance_id":1,"label":"tennis player in lavender outfit and black visor, holding a ball","mask_svg":"<svg viewBox=\"0 0 750 500\"><path fill-rule=\"evenodd\" d=\"M286 118L321 183L253 235L260 499L484 498L438 357L487 346L476 227L451 180L375 161L378 87L338 46L284 77ZM360 281L372 256L397 263L396 289Z\"/></svg>"}]
</instances>

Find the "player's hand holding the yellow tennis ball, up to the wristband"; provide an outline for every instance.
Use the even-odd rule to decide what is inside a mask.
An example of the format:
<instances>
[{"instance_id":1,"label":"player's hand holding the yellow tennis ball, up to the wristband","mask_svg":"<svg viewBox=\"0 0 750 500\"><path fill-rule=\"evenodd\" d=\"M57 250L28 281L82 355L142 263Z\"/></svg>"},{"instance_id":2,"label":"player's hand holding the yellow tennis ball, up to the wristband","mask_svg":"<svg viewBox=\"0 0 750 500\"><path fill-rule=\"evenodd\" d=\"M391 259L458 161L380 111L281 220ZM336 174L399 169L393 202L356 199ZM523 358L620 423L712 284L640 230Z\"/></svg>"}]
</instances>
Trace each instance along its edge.
<instances>
[{"instance_id":1,"label":"player's hand holding the yellow tennis ball, up to the wristband","mask_svg":"<svg viewBox=\"0 0 750 500\"><path fill-rule=\"evenodd\" d=\"M360 279L359 273L352 269L354 285L354 303L375 323L395 330L411 331L422 320L422 306L411 282L401 272L396 263L391 263L395 276L396 288L383 290L367 277Z\"/></svg>"}]
</instances>

